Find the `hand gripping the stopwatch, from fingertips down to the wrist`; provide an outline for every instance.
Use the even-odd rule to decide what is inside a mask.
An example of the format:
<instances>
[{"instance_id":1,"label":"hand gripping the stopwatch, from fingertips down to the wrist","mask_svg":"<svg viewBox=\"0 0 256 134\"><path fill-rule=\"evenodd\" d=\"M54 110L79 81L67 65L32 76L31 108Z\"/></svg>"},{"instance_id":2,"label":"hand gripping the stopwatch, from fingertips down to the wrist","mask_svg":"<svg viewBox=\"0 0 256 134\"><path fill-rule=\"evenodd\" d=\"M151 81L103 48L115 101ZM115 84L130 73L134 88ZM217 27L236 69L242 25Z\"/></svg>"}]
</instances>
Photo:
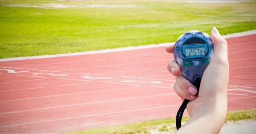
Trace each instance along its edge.
<instances>
[{"instance_id":1,"label":"hand gripping the stopwatch, from fingertips down to the wrist","mask_svg":"<svg viewBox=\"0 0 256 134\"><path fill-rule=\"evenodd\" d=\"M227 84L229 80L229 64L227 56L227 41L221 37L216 28L212 28L211 39L214 44L214 56L202 76L200 92L180 74L180 67L173 60L168 64L168 70L176 76L174 90L182 100L192 100L187 105L189 116L202 109L218 108L219 112L227 114ZM166 47L168 53L173 53L174 45Z\"/></svg>"}]
</instances>

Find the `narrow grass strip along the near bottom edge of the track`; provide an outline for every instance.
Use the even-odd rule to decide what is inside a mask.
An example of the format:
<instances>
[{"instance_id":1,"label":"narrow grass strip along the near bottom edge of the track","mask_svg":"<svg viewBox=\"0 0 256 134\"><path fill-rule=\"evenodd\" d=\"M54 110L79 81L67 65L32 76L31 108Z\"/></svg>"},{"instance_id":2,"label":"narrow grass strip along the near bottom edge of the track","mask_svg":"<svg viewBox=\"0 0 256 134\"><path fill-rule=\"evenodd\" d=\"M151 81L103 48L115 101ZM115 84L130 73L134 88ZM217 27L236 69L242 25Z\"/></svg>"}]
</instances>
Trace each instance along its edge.
<instances>
[{"instance_id":1,"label":"narrow grass strip along the near bottom edge of the track","mask_svg":"<svg viewBox=\"0 0 256 134\"><path fill-rule=\"evenodd\" d=\"M185 123L189 117L183 117ZM226 117L227 122L236 122L238 120L256 120L256 109L241 110L228 112ZM175 118L149 120L139 123L130 123L118 126L108 126L103 128L92 128L85 131L67 132L63 134L149 134L149 132L168 132L176 131Z\"/></svg>"}]
</instances>

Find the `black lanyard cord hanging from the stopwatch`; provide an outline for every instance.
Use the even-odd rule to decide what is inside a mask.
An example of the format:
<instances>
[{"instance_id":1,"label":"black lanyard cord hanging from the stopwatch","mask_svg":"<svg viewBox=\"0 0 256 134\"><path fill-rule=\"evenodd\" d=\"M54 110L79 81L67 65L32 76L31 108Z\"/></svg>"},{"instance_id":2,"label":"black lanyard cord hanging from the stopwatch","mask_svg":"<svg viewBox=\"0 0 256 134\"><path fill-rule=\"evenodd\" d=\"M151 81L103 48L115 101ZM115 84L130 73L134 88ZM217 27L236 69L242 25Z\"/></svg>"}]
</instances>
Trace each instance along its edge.
<instances>
[{"instance_id":1,"label":"black lanyard cord hanging from the stopwatch","mask_svg":"<svg viewBox=\"0 0 256 134\"><path fill-rule=\"evenodd\" d=\"M199 92L199 88L200 88L200 83L201 83L201 80L199 78L196 78L195 79L195 84L193 84L198 89L198 92ZM197 92L197 95L198 95L198 92ZM181 127L182 115L183 115L189 101L190 100L185 99L183 101L183 103L181 104L180 109L177 112L177 115L176 115L176 128L177 128L177 130Z\"/></svg>"}]
</instances>

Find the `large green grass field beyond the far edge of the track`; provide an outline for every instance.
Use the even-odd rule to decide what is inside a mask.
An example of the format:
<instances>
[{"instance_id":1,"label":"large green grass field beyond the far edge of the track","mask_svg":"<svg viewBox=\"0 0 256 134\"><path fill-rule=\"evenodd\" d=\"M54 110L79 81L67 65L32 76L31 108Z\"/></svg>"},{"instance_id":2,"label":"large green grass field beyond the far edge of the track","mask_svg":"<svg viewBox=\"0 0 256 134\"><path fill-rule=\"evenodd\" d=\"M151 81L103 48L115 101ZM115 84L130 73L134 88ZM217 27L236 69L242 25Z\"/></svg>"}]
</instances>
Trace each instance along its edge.
<instances>
[{"instance_id":1,"label":"large green grass field beyond the far edge of the track","mask_svg":"<svg viewBox=\"0 0 256 134\"><path fill-rule=\"evenodd\" d=\"M17 4L108 4L132 8L23 8ZM195 9L196 8L196 9ZM73 53L175 42L198 30L222 35L256 29L256 2L165 0L0 0L0 58Z\"/></svg>"}]
</instances>

